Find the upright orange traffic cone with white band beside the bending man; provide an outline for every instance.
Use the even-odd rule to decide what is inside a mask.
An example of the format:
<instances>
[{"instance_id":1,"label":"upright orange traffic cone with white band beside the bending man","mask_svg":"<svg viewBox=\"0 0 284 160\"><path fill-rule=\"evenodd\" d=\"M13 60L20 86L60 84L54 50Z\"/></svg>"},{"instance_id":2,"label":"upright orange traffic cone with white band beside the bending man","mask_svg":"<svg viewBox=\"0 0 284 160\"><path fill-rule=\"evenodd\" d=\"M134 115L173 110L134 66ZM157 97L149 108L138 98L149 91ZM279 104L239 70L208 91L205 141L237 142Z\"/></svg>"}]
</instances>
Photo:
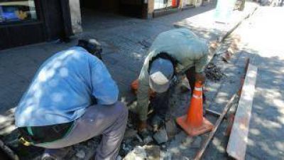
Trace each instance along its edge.
<instances>
[{"instance_id":1,"label":"upright orange traffic cone with white band beside the bending man","mask_svg":"<svg viewBox=\"0 0 284 160\"><path fill-rule=\"evenodd\" d=\"M203 117L202 84L195 82L195 90L187 115L177 118L177 123L190 136L197 136L213 129L213 124Z\"/></svg>"}]
</instances>

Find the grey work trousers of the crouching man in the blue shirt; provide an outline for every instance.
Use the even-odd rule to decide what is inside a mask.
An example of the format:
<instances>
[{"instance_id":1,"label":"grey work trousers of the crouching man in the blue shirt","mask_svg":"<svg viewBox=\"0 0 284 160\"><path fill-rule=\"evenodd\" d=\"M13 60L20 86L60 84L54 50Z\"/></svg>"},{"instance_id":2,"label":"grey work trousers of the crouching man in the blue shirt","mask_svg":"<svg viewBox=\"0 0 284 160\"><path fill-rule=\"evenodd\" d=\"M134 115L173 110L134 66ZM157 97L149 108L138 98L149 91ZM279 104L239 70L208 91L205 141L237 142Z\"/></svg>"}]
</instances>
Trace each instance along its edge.
<instances>
[{"instance_id":1,"label":"grey work trousers of the crouching man in the blue shirt","mask_svg":"<svg viewBox=\"0 0 284 160\"><path fill-rule=\"evenodd\" d=\"M128 110L121 102L114 105L93 105L87 108L82 117L75 121L70 134L55 142L36 144L45 148L45 154L62 159L73 144L102 134L97 147L95 160L116 160L126 129Z\"/></svg>"}]
</instances>

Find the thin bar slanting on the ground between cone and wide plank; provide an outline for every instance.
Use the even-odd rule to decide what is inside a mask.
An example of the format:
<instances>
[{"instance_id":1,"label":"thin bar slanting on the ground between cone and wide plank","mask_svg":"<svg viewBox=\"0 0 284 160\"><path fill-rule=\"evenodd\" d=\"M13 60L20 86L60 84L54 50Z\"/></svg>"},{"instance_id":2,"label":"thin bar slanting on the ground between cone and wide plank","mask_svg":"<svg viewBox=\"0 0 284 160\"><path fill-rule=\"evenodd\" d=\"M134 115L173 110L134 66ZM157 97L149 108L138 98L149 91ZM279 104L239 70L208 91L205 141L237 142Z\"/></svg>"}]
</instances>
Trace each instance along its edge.
<instances>
[{"instance_id":1,"label":"thin bar slanting on the ground between cone and wide plank","mask_svg":"<svg viewBox=\"0 0 284 160\"><path fill-rule=\"evenodd\" d=\"M224 117L226 115L226 112L228 112L229 108L233 104L235 97L236 97L236 93L231 97L229 102L226 104L226 107L224 108L222 114L220 115L219 119L215 123L215 126L212 129L212 132L210 132L209 137L207 137L206 141L202 144L201 149L195 155L195 158L194 158L195 160L198 160L198 159L202 158L202 156L204 154L204 151L207 149L207 146L209 145L209 143L211 142L212 138L214 137L214 134L217 132L217 129L218 129L219 125L221 124L222 120L224 119Z\"/></svg>"}]
</instances>

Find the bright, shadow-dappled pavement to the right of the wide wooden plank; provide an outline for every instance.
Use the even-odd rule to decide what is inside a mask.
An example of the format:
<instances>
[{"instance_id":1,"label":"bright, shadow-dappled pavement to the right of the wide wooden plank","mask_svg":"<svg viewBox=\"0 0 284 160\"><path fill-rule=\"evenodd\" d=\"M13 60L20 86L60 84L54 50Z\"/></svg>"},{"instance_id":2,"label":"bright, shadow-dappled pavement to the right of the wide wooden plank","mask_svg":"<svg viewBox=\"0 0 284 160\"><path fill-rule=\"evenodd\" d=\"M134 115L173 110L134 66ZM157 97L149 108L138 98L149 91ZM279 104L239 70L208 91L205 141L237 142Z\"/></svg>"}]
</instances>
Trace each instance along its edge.
<instances>
[{"instance_id":1,"label":"bright, shadow-dappled pavement to the right of the wide wooden plank","mask_svg":"<svg viewBox=\"0 0 284 160\"><path fill-rule=\"evenodd\" d=\"M283 7L260 7L239 29L258 67L246 159L284 159L283 15Z\"/></svg>"}]
</instances>

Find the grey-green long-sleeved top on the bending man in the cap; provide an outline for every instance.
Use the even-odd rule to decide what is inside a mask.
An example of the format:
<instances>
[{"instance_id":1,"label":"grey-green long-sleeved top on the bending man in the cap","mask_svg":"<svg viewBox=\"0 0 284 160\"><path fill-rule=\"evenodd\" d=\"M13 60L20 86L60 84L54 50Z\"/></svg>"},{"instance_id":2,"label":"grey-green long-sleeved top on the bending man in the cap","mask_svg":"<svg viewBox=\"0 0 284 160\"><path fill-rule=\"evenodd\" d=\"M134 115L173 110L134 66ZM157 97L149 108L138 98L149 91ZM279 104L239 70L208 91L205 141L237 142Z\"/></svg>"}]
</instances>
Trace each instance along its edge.
<instances>
[{"instance_id":1,"label":"grey-green long-sleeved top on the bending man in the cap","mask_svg":"<svg viewBox=\"0 0 284 160\"><path fill-rule=\"evenodd\" d=\"M137 93L137 112L139 118L144 121L147 119L149 95L149 62L159 53L168 53L177 60L175 73L184 73L189 68L195 66L196 73L202 73L207 65L209 48L205 41L198 38L195 33L186 29L179 28L160 33L143 63L141 73L138 78Z\"/></svg>"}]
</instances>

